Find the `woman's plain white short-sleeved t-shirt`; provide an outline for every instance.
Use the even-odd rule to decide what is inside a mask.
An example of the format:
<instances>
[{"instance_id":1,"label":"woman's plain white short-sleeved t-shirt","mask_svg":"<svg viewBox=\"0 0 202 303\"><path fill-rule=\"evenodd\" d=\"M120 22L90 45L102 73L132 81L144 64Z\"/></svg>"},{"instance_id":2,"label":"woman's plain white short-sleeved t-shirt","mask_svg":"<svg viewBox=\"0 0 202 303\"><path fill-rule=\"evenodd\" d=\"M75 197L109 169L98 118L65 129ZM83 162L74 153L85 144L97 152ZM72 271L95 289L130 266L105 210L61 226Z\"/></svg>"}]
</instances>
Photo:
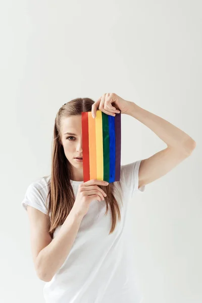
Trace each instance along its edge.
<instances>
[{"instance_id":1,"label":"woman's plain white short-sleeved t-shirt","mask_svg":"<svg viewBox=\"0 0 202 303\"><path fill-rule=\"evenodd\" d=\"M64 264L46 282L43 295L46 303L140 303L139 290L133 268L130 230L126 214L129 200L138 190L138 171L141 160L121 166L123 207L117 191L114 193L120 206L121 221L109 235L111 210L105 216L105 201L93 200L83 217L73 246ZM50 176L29 185L22 206L30 205L44 214ZM78 185L83 181L72 181L76 196ZM114 182L119 190L118 182ZM55 232L57 236L61 226ZM68 239L67 239L68 241Z\"/></svg>"}]
</instances>

